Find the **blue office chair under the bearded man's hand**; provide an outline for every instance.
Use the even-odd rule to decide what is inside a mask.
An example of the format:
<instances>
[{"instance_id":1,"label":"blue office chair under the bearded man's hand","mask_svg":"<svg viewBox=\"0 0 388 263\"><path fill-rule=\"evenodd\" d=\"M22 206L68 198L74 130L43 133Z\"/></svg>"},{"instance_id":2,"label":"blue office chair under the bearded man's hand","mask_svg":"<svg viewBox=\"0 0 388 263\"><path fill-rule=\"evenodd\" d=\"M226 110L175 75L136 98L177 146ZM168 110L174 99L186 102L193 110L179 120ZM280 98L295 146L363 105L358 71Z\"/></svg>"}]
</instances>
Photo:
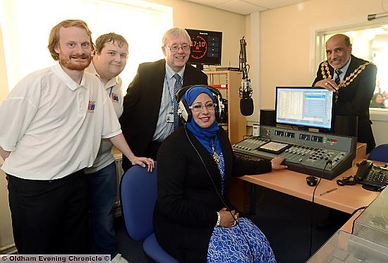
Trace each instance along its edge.
<instances>
[{"instance_id":1,"label":"blue office chair under the bearded man's hand","mask_svg":"<svg viewBox=\"0 0 388 263\"><path fill-rule=\"evenodd\" d=\"M157 169L152 173L146 168L135 165L121 178L121 209L126 231L133 240L143 240L145 254L154 262L178 263L165 252L154 235L152 214L157 200Z\"/></svg>"}]
</instances>

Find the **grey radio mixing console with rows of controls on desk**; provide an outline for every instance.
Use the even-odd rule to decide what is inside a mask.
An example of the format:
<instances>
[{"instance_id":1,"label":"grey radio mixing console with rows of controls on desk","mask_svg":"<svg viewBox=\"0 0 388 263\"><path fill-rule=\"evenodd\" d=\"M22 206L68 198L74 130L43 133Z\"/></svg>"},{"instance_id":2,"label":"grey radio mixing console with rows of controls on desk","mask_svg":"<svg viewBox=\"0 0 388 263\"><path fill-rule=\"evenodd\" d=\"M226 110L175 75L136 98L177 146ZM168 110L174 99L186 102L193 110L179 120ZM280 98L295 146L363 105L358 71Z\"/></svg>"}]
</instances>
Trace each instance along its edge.
<instances>
[{"instance_id":1,"label":"grey radio mixing console with rows of controls on desk","mask_svg":"<svg viewBox=\"0 0 388 263\"><path fill-rule=\"evenodd\" d=\"M284 164L292 171L332 180L351 168L356 143L356 137L260 126L260 136L249 137L232 147L238 158L283 156Z\"/></svg>"}]
</instances>

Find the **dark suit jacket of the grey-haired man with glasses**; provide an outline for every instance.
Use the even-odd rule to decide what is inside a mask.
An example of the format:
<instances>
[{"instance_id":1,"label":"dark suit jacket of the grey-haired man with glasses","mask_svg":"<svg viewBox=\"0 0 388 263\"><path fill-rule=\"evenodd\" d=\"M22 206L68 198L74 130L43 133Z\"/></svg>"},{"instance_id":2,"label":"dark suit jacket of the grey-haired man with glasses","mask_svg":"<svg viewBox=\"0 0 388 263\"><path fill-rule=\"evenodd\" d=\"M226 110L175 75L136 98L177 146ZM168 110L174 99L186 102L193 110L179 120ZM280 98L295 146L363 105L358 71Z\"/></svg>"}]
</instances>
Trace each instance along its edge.
<instances>
[{"instance_id":1,"label":"dark suit jacket of the grey-haired man with glasses","mask_svg":"<svg viewBox=\"0 0 388 263\"><path fill-rule=\"evenodd\" d=\"M123 114L119 119L121 130L138 157L144 156L157 126L165 74L165 59L141 63L123 99ZM186 64L183 87L195 84L207 84L207 75ZM123 157L123 166L128 168L128 165L128 159Z\"/></svg>"}]
</instances>

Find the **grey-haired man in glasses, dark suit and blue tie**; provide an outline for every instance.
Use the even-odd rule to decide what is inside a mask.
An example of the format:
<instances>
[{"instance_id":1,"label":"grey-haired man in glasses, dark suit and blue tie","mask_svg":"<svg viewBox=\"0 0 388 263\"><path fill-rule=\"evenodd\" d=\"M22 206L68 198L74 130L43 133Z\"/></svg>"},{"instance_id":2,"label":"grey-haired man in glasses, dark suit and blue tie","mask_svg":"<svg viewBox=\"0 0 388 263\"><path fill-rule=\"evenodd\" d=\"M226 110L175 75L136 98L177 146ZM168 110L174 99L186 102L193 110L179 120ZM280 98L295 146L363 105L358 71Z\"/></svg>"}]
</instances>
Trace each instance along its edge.
<instances>
[{"instance_id":1,"label":"grey-haired man in glasses, dark suit and blue tie","mask_svg":"<svg viewBox=\"0 0 388 263\"><path fill-rule=\"evenodd\" d=\"M123 99L121 130L136 156L157 157L162 141L174 130L178 120L174 88L207 85L207 75L190 66L191 39L186 30L171 28L162 39L165 59L140 64ZM178 76L176 75L178 74ZM138 155L138 154L145 155ZM123 170L131 163L123 157Z\"/></svg>"}]
</instances>

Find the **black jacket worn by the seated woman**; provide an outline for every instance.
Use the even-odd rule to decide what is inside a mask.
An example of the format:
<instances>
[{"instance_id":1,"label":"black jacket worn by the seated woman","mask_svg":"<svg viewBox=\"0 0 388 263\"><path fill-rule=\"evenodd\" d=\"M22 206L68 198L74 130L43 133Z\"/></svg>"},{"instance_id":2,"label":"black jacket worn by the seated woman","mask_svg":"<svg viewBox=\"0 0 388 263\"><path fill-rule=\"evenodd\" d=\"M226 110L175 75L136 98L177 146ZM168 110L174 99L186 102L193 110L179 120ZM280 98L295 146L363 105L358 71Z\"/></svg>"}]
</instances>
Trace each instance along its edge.
<instances>
[{"instance_id":1,"label":"black jacket worn by the seated woman","mask_svg":"<svg viewBox=\"0 0 388 263\"><path fill-rule=\"evenodd\" d=\"M271 171L272 166L267 160L236 159L228 135L222 128L218 137L225 159L223 199L229 204L227 193L231 176L265 173ZM205 262L210 237L217 224L217 212L225 207L215 190L217 188L221 194L221 176L217 164L190 131L187 130L186 135L184 126L164 140L157 160L155 236L166 252L179 262ZM229 207L232 208L230 204Z\"/></svg>"}]
</instances>

